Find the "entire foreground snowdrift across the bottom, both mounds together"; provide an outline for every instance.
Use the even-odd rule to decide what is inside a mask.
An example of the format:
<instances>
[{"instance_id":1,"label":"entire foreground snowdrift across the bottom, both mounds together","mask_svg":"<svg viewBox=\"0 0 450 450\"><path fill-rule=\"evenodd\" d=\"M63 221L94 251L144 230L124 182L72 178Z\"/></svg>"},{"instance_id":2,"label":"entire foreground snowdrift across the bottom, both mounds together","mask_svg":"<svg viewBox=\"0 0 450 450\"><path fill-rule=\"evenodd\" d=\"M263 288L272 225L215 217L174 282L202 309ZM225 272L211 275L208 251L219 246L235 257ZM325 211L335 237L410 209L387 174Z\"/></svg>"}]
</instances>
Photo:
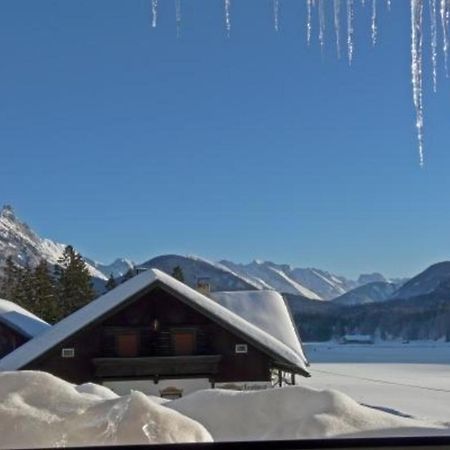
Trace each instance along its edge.
<instances>
[{"instance_id":1,"label":"entire foreground snowdrift across the bottom, both mounds together","mask_svg":"<svg viewBox=\"0 0 450 450\"><path fill-rule=\"evenodd\" d=\"M430 435L443 425L359 405L336 391L287 387L199 391L160 404L140 392L119 397L42 372L0 373L0 447Z\"/></svg>"}]
</instances>

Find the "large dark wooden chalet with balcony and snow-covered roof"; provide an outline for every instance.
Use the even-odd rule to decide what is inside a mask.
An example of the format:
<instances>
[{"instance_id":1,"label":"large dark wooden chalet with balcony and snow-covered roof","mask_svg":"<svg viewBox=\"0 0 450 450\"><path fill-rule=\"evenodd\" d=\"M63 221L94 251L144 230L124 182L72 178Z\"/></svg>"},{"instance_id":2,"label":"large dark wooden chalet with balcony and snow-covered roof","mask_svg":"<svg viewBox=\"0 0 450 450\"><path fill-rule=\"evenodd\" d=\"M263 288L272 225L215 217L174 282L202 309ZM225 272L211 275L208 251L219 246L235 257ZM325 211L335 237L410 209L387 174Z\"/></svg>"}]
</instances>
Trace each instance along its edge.
<instances>
[{"instance_id":1,"label":"large dark wooden chalet with balcony and snow-covered roof","mask_svg":"<svg viewBox=\"0 0 450 450\"><path fill-rule=\"evenodd\" d=\"M42 370L77 384L144 382L149 393L171 395L183 381L267 383L272 369L309 376L282 297L278 330L267 324L280 317L252 320L236 310L243 299L231 297L207 297L150 269L3 358L0 370Z\"/></svg>"}]
</instances>

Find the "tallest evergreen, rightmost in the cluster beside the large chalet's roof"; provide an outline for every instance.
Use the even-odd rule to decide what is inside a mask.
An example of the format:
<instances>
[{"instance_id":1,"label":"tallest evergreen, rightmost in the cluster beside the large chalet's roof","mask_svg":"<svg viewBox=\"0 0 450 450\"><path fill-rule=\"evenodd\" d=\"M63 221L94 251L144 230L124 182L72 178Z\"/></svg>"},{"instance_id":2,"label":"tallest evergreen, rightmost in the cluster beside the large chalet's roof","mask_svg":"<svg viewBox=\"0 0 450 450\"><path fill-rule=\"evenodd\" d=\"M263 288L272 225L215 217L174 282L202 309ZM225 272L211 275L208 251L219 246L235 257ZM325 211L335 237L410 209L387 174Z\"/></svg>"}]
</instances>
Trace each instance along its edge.
<instances>
[{"instance_id":1,"label":"tallest evergreen, rightmost in the cluster beside the large chalet's roof","mask_svg":"<svg viewBox=\"0 0 450 450\"><path fill-rule=\"evenodd\" d=\"M81 255L68 245L58 261L57 295L61 305L58 319L72 314L95 297L91 276Z\"/></svg>"}]
</instances>

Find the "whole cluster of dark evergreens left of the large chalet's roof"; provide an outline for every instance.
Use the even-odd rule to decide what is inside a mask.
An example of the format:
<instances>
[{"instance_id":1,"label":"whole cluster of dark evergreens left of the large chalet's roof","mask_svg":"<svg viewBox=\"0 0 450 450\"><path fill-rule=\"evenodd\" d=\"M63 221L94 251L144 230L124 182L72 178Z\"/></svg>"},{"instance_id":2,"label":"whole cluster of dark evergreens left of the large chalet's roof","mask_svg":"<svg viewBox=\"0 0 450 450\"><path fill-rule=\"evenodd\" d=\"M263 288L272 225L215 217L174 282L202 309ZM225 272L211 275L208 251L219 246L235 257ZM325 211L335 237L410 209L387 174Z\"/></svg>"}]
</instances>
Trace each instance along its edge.
<instances>
[{"instance_id":1,"label":"whole cluster of dark evergreens left of the large chalet's roof","mask_svg":"<svg viewBox=\"0 0 450 450\"><path fill-rule=\"evenodd\" d=\"M96 292L85 261L69 245L56 265L41 260L36 267L21 267L7 258L0 297L56 323L92 301Z\"/></svg>"}]
</instances>

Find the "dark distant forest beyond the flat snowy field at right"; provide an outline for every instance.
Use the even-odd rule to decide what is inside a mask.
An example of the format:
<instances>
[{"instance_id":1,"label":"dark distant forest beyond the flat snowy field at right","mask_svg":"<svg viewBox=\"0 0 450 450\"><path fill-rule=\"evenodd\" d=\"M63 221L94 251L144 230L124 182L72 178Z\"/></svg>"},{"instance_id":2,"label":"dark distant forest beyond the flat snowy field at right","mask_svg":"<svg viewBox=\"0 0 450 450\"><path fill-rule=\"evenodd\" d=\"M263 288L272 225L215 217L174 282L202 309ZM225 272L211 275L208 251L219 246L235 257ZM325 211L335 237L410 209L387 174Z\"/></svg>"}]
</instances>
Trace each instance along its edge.
<instances>
[{"instance_id":1,"label":"dark distant forest beyond the flat snowy field at right","mask_svg":"<svg viewBox=\"0 0 450 450\"><path fill-rule=\"evenodd\" d=\"M329 341L345 334L383 340L450 341L450 280L430 294L360 306L285 297L305 342Z\"/></svg>"}]
</instances>

